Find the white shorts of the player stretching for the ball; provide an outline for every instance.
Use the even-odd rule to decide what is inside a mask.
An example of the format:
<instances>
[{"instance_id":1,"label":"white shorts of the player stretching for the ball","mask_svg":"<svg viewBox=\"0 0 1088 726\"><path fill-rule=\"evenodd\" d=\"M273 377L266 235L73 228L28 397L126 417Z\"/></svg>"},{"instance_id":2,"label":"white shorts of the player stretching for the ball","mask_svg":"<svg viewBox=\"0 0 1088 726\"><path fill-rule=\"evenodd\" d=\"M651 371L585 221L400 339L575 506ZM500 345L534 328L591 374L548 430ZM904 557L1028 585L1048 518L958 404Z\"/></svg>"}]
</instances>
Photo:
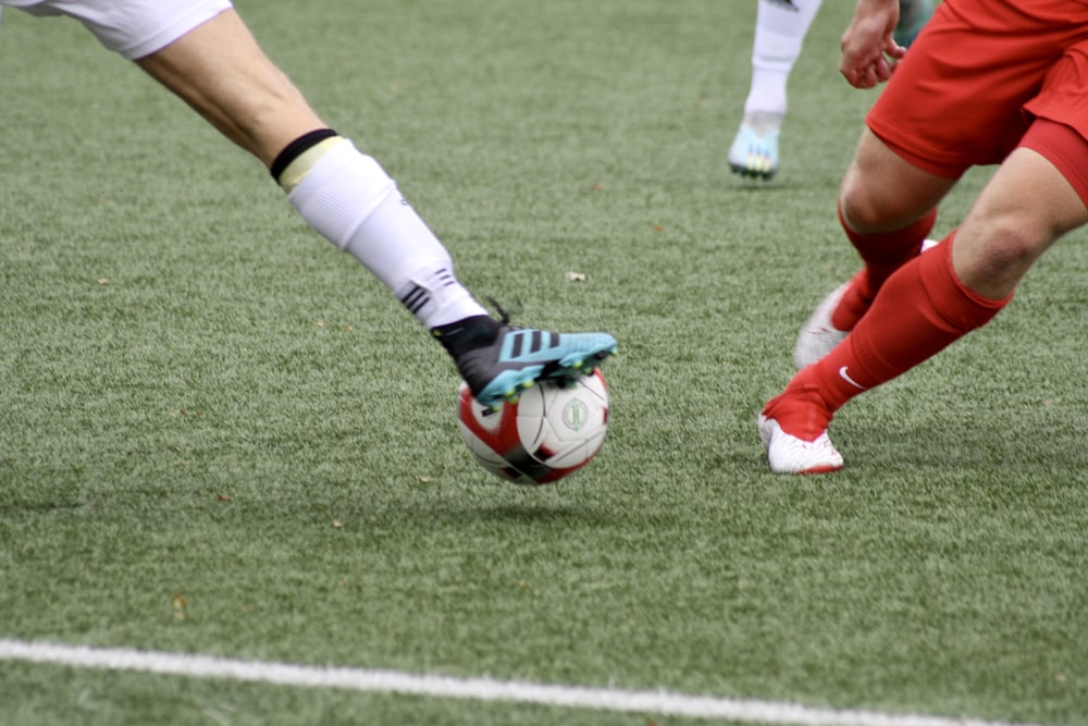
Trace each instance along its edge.
<instances>
[{"instance_id":1,"label":"white shorts of the player stretching for the ball","mask_svg":"<svg viewBox=\"0 0 1088 726\"><path fill-rule=\"evenodd\" d=\"M231 0L0 0L35 15L74 17L128 60L150 56L231 8Z\"/></svg>"}]
</instances>

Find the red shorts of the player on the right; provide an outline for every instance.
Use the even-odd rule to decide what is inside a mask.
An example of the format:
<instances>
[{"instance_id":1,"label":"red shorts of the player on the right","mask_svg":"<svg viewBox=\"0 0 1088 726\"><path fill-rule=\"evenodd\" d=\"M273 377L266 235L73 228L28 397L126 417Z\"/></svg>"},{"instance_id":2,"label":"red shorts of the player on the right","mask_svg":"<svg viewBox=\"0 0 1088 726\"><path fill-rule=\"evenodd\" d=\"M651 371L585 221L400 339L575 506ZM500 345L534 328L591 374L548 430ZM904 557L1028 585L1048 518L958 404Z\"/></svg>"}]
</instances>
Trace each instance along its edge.
<instances>
[{"instance_id":1,"label":"red shorts of the player on the right","mask_svg":"<svg viewBox=\"0 0 1088 726\"><path fill-rule=\"evenodd\" d=\"M1088 0L944 0L866 123L915 167L959 179L1000 163L1036 118L1088 144Z\"/></svg>"}]
</instances>

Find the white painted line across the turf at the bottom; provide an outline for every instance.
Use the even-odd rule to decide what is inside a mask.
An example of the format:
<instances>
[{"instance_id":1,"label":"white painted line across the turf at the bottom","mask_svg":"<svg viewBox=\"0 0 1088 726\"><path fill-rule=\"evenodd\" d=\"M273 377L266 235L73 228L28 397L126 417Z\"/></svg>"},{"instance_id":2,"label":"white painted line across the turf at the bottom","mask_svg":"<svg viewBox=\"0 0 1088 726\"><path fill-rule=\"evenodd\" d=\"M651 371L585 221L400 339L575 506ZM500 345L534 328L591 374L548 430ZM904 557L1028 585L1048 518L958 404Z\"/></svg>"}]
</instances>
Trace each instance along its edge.
<instances>
[{"instance_id":1,"label":"white painted line across the turf at the bottom","mask_svg":"<svg viewBox=\"0 0 1088 726\"><path fill-rule=\"evenodd\" d=\"M0 639L0 661L49 663L76 668L133 670L191 678L339 688L376 693L475 699L548 706L636 712L654 715L722 718L798 726L1013 726L970 718L944 718L875 711L816 709L793 703L753 701L668 691L583 688L491 678L452 678L396 670L325 668L290 663L237 661L208 655L87 648ZM1027 724L1021 726L1030 726Z\"/></svg>"}]
</instances>

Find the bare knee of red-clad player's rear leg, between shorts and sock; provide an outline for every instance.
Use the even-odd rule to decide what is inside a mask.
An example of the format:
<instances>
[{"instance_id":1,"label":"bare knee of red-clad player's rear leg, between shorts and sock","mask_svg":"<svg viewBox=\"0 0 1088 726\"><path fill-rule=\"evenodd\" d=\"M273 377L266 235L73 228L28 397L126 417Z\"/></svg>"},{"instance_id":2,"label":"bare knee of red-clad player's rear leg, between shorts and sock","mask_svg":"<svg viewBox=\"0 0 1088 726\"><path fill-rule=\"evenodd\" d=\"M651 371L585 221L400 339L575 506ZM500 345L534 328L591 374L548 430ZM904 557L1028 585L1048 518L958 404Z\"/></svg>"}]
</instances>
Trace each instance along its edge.
<instances>
[{"instance_id":1,"label":"bare knee of red-clad player's rear leg, between shorts and sock","mask_svg":"<svg viewBox=\"0 0 1088 726\"><path fill-rule=\"evenodd\" d=\"M839 208L854 232L892 232L922 219L955 182L912 164L864 128L842 180Z\"/></svg>"}]
</instances>

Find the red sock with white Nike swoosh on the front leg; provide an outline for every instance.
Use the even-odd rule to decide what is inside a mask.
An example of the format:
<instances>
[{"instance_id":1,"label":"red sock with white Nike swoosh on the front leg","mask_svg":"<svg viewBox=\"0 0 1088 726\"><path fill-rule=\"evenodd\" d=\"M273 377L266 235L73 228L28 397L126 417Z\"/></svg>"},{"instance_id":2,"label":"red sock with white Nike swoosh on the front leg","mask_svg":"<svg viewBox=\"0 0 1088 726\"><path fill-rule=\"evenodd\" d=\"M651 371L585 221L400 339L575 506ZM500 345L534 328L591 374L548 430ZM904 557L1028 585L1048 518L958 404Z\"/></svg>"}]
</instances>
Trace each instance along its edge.
<instances>
[{"instance_id":1,"label":"red sock with white Nike swoosh on the front leg","mask_svg":"<svg viewBox=\"0 0 1088 726\"><path fill-rule=\"evenodd\" d=\"M765 415L791 435L812 441L843 404L906 372L953 341L989 322L1012 295L990 300L964 286L952 270L952 241L888 279L845 341L800 371Z\"/></svg>"}]
</instances>

